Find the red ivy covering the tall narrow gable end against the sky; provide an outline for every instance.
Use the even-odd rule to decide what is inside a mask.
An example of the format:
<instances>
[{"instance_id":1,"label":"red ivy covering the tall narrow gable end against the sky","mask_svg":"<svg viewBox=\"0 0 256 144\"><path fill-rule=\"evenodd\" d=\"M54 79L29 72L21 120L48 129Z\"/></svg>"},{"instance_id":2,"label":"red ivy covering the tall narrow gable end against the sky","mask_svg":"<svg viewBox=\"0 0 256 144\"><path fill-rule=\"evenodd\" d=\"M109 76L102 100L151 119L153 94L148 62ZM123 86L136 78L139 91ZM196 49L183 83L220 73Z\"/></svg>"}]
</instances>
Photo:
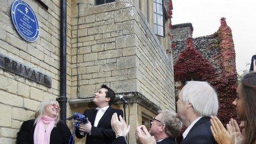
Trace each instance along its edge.
<instances>
[{"instance_id":1,"label":"red ivy covering the tall narrow gable end against the sky","mask_svg":"<svg viewBox=\"0 0 256 144\"><path fill-rule=\"evenodd\" d=\"M223 70L221 76L214 79L212 83L214 83L220 99L218 117L224 124L227 124L230 118L237 117L236 110L232 105L234 95L236 94L237 72L232 31L224 17L221 18L221 26L218 29L218 39L220 40L220 58Z\"/></svg>"}]
</instances>

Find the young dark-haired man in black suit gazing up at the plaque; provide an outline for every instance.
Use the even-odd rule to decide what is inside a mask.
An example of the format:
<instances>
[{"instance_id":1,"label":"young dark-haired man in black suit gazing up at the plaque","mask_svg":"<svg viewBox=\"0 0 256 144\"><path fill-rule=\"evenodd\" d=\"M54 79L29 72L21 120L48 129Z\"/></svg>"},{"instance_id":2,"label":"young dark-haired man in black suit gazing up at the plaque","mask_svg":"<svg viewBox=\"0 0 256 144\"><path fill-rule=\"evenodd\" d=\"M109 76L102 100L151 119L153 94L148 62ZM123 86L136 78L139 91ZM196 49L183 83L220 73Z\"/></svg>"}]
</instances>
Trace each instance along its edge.
<instances>
[{"instance_id":1,"label":"young dark-haired man in black suit gazing up at the plaque","mask_svg":"<svg viewBox=\"0 0 256 144\"><path fill-rule=\"evenodd\" d=\"M111 127L111 116L114 113L123 116L122 110L110 107L114 100L115 92L103 84L98 92L94 94L93 103L98 107L84 111L84 115L88 118L88 123L79 125L79 130L76 130L76 137L83 138L87 135L87 144L112 143L116 136Z\"/></svg>"}]
</instances>

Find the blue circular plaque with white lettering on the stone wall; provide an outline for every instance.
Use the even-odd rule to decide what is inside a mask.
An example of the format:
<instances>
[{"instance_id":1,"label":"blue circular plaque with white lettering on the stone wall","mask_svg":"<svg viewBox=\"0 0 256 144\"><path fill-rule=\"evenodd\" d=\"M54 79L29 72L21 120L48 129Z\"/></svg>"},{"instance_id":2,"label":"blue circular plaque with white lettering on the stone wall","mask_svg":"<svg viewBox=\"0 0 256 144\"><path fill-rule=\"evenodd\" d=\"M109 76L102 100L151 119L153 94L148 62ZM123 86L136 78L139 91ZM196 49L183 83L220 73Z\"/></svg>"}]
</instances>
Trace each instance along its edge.
<instances>
[{"instance_id":1,"label":"blue circular plaque with white lettering on the stone wall","mask_svg":"<svg viewBox=\"0 0 256 144\"><path fill-rule=\"evenodd\" d=\"M39 23L28 3L17 0L12 4L12 21L19 35L28 42L34 42L39 36Z\"/></svg>"}]
</instances>

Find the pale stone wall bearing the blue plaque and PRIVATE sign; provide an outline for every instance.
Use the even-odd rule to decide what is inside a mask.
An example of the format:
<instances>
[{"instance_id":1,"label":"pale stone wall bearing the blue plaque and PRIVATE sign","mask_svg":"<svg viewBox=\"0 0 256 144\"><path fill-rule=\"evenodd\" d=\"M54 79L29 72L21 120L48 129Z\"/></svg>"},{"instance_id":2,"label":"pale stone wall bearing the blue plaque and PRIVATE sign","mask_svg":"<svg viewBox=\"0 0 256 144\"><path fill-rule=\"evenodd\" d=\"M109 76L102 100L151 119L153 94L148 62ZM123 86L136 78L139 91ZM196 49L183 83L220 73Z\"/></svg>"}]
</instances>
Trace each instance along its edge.
<instances>
[{"instance_id":1,"label":"pale stone wall bearing the blue plaque and PRIVATE sign","mask_svg":"<svg viewBox=\"0 0 256 144\"><path fill-rule=\"evenodd\" d=\"M51 88L0 68L0 143L15 143L23 121L31 119L39 103L60 95L60 1L43 0L48 10L36 1L25 1L39 19L40 34L35 42L26 42L15 30L10 17L14 0L1 1L0 52L33 67L52 78ZM71 1L67 1L70 10ZM70 23L70 13L68 23ZM71 30L68 26L67 65L70 67ZM67 68L67 93L70 95L71 69ZM67 108L69 111L69 108Z\"/></svg>"}]
</instances>

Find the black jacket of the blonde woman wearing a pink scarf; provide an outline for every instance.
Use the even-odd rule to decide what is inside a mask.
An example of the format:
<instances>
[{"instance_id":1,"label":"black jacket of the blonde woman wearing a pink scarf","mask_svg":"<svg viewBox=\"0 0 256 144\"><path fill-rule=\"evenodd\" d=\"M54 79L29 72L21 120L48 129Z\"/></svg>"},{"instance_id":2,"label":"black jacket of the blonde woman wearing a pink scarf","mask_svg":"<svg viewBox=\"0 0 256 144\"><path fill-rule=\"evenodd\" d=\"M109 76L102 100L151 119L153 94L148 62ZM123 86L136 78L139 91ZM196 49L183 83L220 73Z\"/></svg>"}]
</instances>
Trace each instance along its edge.
<instances>
[{"instance_id":1,"label":"black jacket of the blonde woman wearing a pink scarf","mask_svg":"<svg viewBox=\"0 0 256 144\"><path fill-rule=\"evenodd\" d=\"M34 143L35 120L24 121L17 134L17 144L30 144ZM70 129L62 121L52 129L50 136L50 143L63 144L68 143L71 137Z\"/></svg>"}]
</instances>

